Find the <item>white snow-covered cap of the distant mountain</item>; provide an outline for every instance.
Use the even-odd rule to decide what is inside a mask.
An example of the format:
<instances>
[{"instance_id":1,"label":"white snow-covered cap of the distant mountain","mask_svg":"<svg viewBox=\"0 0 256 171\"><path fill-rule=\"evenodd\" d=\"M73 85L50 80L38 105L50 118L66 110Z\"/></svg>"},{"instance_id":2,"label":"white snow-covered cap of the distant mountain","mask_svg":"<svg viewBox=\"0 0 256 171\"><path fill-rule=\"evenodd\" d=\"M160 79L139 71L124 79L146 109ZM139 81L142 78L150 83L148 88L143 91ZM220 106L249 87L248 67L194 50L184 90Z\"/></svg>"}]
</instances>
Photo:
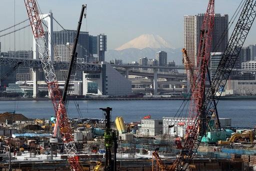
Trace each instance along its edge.
<instances>
[{"instance_id":1,"label":"white snow-covered cap of the distant mountain","mask_svg":"<svg viewBox=\"0 0 256 171\"><path fill-rule=\"evenodd\" d=\"M127 43L124 43L120 47L117 47L115 50L124 50L128 48L137 48L137 49L144 49L146 47L149 48L172 48L170 43L168 43L166 40L164 40L159 35L153 35L153 34L142 34Z\"/></svg>"}]
</instances>

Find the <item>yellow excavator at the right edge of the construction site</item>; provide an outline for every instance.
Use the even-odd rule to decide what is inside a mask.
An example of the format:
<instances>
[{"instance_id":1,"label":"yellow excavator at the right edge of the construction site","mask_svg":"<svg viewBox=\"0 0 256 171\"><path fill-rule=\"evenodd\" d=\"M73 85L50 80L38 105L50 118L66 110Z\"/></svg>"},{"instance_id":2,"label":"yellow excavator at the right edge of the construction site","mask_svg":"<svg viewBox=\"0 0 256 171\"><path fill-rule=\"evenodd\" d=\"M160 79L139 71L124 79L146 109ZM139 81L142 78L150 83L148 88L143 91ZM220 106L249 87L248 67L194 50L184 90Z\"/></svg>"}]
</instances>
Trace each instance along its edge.
<instances>
[{"instance_id":1,"label":"yellow excavator at the right edge of the construction site","mask_svg":"<svg viewBox=\"0 0 256 171\"><path fill-rule=\"evenodd\" d=\"M227 141L218 141L218 145L230 145L235 142L241 142L245 139L249 139L251 145L253 146L253 131L252 130L245 130L241 133L233 133L232 136L227 139Z\"/></svg>"}]
</instances>

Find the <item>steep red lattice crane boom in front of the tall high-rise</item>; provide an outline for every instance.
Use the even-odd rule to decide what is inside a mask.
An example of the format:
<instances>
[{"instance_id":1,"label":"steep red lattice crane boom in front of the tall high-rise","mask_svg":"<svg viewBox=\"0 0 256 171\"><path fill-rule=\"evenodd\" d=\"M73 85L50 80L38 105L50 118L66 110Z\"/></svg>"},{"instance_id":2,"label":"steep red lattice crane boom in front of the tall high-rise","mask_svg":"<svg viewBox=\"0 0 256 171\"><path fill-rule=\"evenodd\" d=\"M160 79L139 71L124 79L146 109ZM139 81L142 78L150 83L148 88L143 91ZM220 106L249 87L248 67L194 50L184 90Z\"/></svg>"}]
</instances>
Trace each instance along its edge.
<instances>
[{"instance_id":1,"label":"steep red lattice crane boom in front of the tall high-rise","mask_svg":"<svg viewBox=\"0 0 256 171\"><path fill-rule=\"evenodd\" d=\"M193 145L197 136L202 136L202 132L206 130L205 116L204 116L204 88L206 80L206 70L208 65L208 59L211 50L211 39L214 25L214 0L209 0L206 13L204 14L202 27L200 30L200 40L198 45L198 54L196 58L196 67L194 72L194 79L192 86L192 96L189 109L189 118L198 118L193 123L192 127L187 131L186 140L181 151L180 156L174 162L171 171L173 170L185 170L189 164L190 159L193 158L195 152Z\"/></svg>"}]
</instances>

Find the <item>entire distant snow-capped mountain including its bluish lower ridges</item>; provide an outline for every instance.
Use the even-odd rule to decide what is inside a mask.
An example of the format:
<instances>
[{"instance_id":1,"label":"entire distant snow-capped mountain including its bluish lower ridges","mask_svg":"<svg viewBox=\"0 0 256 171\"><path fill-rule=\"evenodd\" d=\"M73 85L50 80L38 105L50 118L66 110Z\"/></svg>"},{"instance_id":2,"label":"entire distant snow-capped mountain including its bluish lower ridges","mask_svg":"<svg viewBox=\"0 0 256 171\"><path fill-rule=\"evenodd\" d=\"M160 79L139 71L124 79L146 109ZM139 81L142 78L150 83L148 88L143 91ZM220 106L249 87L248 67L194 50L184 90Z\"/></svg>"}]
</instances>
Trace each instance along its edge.
<instances>
[{"instance_id":1,"label":"entire distant snow-capped mountain including its bluish lower ridges","mask_svg":"<svg viewBox=\"0 0 256 171\"><path fill-rule=\"evenodd\" d=\"M122 59L124 63L131 63L131 61L138 61L141 57L153 59L155 53L160 50L167 52L167 61L174 60L176 64L182 64L181 48L175 49L160 36L152 34L140 35L115 50L107 50L105 60L115 58Z\"/></svg>"}]
</instances>

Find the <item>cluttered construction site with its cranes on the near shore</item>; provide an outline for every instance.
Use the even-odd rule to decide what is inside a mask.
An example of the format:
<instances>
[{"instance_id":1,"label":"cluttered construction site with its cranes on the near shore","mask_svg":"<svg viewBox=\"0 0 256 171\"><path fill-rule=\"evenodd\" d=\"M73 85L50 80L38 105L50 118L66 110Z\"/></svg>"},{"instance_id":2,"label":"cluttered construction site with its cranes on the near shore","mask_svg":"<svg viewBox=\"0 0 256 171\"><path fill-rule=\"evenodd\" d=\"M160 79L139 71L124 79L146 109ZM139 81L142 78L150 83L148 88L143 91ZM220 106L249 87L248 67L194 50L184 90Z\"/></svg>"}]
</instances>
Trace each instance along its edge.
<instances>
[{"instance_id":1,"label":"cluttered construction site with its cranes on the near shore","mask_svg":"<svg viewBox=\"0 0 256 171\"><path fill-rule=\"evenodd\" d=\"M180 49L188 92L176 115L159 120L147 115L139 122L126 123L121 116L111 118L111 106L98 107L104 119L71 119L67 115L67 96L71 94L77 66L76 46L87 6L81 5L65 84L60 90L45 36L49 33L45 16L36 0L24 0L55 115L48 119L30 119L15 112L0 114L0 169L256 171L255 129L232 127L231 119L219 118L217 110L223 87L255 19L256 0L242 0L237 7L226 28L233 28L228 44L210 78L208 63L214 5L214 0L209 0L205 6L196 64L189 61L185 48ZM20 64L22 62L11 70ZM189 106L187 117L182 116L184 105Z\"/></svg>"}]
</instances>

